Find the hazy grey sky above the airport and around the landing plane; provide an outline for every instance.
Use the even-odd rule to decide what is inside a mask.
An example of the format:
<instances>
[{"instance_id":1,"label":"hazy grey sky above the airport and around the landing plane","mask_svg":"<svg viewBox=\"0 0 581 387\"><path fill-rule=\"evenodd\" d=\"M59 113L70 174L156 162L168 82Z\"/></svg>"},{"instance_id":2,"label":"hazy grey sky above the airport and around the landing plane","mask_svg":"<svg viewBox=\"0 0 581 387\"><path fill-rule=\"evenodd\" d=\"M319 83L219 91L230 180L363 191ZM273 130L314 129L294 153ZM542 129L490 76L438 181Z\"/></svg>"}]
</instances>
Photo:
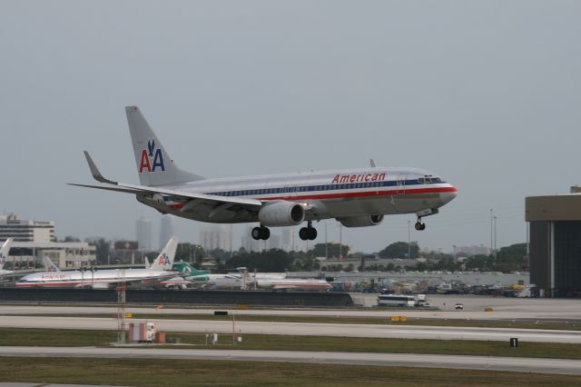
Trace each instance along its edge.
<instances>
[{"instance_id":1,"label":"hazy grey sky above the airport and around the landing plane","mask_svg":"<svg viewBox=\"0 0 581 387\"><path fill-rule=\"evenodd\" d=\"M93 182L84 149L138 182L123 109L137 104L194 173L427 168L459 193L412 230L421 247L488 245L491 208L498 244L525 242L525 196L581 182L579 20L577 1L5 0L1 209L59 237L158 223L132 195L65 185ZM408 220L343 242L378 251ZM198 241L201 223L176 224Z\"/></svg>"}]
</instances>

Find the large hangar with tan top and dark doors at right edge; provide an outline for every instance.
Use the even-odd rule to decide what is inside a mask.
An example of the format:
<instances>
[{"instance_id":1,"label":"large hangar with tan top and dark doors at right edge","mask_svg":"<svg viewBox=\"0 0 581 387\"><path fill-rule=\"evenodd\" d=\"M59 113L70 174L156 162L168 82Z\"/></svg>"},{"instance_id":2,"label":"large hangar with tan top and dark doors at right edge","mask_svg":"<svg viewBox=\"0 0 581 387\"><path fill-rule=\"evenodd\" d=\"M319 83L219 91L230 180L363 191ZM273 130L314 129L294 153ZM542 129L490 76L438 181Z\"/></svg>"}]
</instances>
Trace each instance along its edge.
<instances>
[{"instance_id":1,"label":"large hangar with tan top and dark doors at right edge","mask_svg":"<svg viewBox=\"0 0 581 387\"><path fill-rule=\"evenodd\" d=\"M526 199L530 283L540 296L581 297L581 188Z\"/></svg>"}]
</instances>

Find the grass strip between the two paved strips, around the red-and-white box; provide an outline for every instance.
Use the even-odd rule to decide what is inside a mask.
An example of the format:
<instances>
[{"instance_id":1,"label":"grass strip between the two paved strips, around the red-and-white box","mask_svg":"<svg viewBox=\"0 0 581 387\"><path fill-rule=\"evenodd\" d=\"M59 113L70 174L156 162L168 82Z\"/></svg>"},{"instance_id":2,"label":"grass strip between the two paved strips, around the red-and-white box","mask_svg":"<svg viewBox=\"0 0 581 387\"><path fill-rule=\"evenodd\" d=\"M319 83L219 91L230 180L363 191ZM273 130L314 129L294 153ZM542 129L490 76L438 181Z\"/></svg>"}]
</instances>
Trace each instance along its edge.
<instances>
[{"instance_id":1,"label":"grass strip between the two paved strips, around the red-and-white box","mask_svg":"<svg viewBox=\"0 0 581 387\"><path fill-rule=\"evenodd\" d=\"M204 333L166 332L178 338L179 348L231 349L231 334L220 334L218 345L205 345ZM106 346L115 342L114 331L42 330L0 328L0 345L23 346ZM174 346L167 345L167 348ZM519 342L509 348L508 342L463 340L378 339L360 337L287 336L275 334L244 334L235 348L270 351L329 351L430 353L455 355L510 356L551 359L581 359L581 346L553 342Z\"/></svg>"}]
</instances>

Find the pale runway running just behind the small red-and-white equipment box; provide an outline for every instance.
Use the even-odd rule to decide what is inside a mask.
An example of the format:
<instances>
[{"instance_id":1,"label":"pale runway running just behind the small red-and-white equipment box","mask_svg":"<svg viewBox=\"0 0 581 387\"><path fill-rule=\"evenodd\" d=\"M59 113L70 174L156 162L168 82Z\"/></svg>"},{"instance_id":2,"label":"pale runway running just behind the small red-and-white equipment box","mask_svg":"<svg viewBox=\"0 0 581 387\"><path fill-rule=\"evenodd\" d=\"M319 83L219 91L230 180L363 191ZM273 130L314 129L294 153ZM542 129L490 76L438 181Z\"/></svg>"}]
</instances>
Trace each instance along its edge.
<instances>
[{"instance_id":1,"label":"pale runway running just behind the small red-and-white equipment box","mask_svg":"<svg viewBox=\"0 0 581 387\"><path fill-rule=\"evenodd\" d=\"M346 324L346 323L271 323L216 320L157 320L162 332L216 332L242 334L284 334L306 336L375 337L399 339L506 341L517 337L521 342L581 343L581 331L556 331L511 328L470 328L414 325ZM20 328L116 330L113 318L45 317L23 319L0 316L0 326Z\"/></svg>"}]
</instances>

